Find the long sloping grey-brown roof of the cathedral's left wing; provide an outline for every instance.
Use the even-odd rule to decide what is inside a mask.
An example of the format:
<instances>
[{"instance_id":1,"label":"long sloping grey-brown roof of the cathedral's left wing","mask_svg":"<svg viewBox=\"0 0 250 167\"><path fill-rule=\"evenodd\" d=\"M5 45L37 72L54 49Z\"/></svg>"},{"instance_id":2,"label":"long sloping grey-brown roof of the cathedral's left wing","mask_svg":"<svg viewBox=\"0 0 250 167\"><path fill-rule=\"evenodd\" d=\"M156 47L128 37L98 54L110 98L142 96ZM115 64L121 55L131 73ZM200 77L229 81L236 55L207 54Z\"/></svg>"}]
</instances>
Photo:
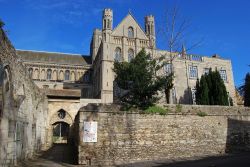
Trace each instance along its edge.
<instances>
[{"instance_id":1,"label":"long sloping grey-brown roof of the cathedral's left wing","mask_svg":"<svg viewBox=\"0 0 250 167\"><path fill-rule=\"evenodd\" d=\"M16 52L24 62L91 65L91 56L87 55L29 50L16 50Z\"/></svg>"}]
</instances>

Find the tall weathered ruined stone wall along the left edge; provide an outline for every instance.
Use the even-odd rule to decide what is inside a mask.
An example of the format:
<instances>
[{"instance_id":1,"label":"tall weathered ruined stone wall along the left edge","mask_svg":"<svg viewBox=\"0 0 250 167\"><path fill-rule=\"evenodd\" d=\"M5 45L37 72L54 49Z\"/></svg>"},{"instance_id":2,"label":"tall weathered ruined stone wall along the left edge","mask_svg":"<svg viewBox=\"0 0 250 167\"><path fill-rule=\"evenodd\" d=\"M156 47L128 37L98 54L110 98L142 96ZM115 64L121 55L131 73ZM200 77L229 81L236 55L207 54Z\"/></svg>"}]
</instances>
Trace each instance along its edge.
<instances>
[{"instance_id":1,"label":"tall weathered ruined stone wall along the left edge","mask_svg":"<svg viewBox=\"0 0 250 167\"><path fill-rule=\"evenodd\" d=\"M0 27L2 109L0 166L31 158L45 144L47 99L26 74L14 47Z\"/></svg>"}]
</instances>

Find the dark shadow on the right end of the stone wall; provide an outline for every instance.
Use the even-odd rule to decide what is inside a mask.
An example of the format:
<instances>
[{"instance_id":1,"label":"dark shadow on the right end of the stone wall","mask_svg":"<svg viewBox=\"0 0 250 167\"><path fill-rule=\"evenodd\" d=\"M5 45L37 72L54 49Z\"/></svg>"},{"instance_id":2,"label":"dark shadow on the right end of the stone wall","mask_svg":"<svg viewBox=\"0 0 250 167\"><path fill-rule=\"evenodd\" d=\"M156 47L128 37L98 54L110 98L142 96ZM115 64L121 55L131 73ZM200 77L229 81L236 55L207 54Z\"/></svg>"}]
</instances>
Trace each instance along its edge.
<instances>
[{"instance_id":1,"label":"dark shadow on the right end of the stone wall","mask_svg":"<svg viewBox=\"0 0 250 167\"><path fill-rule=\"evenodd\" d=\"M250 151L250 121L228 118L226 152Z\"/></svg>"}]
</instances>

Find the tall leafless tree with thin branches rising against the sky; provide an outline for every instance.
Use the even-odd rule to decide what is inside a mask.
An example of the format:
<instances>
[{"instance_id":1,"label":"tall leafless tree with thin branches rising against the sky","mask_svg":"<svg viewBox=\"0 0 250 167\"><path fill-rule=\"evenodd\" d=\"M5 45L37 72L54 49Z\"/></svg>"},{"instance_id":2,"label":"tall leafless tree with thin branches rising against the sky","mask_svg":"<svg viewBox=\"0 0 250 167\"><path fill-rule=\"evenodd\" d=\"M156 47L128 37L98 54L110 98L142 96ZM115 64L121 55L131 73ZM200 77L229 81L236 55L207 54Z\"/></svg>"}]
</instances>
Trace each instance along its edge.
<instances>
[{"instance_id":1,"label":"tall leafless tree with thin branches rising against the sky","mask_svg":"<svg viewBox=\"0 0 250 167\"><path fill-rule=\"evenodd\" d=\"M162 30L160 30L163 33L163 38L165 38L165 41L167 43L167 49L169 51L169 53L165 55L166 61L171 65L171 72L170 74L168 73L166 75L172 78L168 79L164 90L167 103L169 103L170 101L170 90L174 86L173 60L180 55L186 59L186 52L188 50L194 49L195 47L198 47L202 42L202 40L199 40L198 42L195 42L190 45L188 49L185 48L185 38L187 36L188 30L190 29L191 22L189 19L184 18L180 15L179 9L180 8L175 5L172 9L166 11L164 17L165 25Z\"/></svg>"}]
</instances>

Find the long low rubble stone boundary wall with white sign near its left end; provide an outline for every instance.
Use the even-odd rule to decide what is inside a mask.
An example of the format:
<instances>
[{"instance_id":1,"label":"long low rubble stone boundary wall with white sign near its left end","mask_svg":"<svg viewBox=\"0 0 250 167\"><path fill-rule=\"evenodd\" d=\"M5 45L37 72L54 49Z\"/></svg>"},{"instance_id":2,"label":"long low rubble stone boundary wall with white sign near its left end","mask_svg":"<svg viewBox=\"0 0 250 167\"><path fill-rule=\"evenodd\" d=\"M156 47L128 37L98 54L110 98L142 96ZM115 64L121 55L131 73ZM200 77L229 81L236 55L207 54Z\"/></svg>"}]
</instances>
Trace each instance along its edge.
<instances>
[{"instance_id":1,"label":"long low rubble stone boundary wall with white sign near its left end","mask_svg":"<svg viewBox=\"0 0 250 167\"><path fill-rule=\"evenodd\" d=\"M75 121L79 164L113 166L250 149L249 108L185 105L168 110L159 115L122 112L117 106L82 108ZM98 122L97 143L83 142L84 121Z\"/></svg>"}]
</instances>

